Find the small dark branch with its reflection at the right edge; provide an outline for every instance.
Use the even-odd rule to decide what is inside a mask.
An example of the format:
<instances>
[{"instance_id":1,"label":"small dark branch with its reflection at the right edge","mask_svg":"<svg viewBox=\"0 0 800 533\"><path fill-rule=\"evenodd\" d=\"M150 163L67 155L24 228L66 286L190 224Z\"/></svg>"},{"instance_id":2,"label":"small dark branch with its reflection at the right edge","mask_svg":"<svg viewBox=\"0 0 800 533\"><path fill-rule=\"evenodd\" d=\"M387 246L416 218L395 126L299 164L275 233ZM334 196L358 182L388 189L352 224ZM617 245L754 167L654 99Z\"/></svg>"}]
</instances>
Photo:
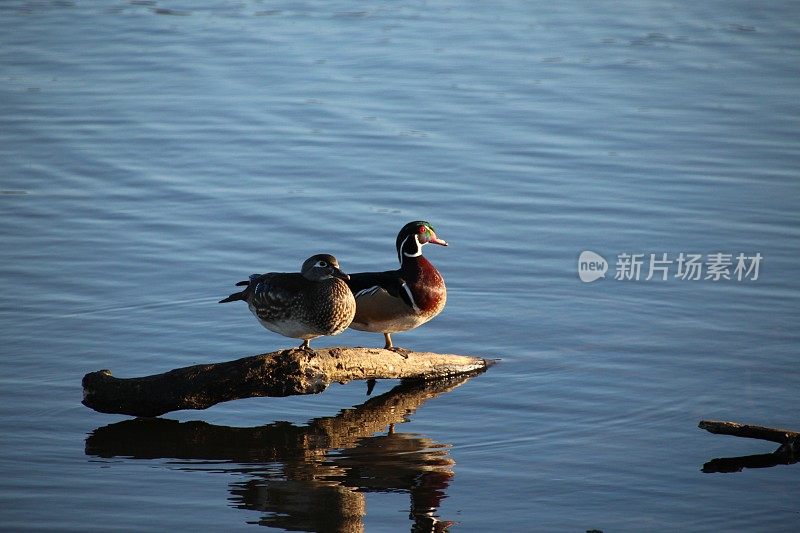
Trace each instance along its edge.
<instances>
[{"instance_id":1,"label":"small dark branch with its reflection at the right edge","mask_svg":"<svg viewBox=\"0 0 800 533\"><path fill-rule=\"evenodd\" d=\"M701 420L698 427L717 435L732 435L780 444L772 453L713 459L703 465L703 472L706 473L740 472L745 468L790 465L796 463L800 455L800 432L797 431L719 420Z\"/></svg>"}]
</instances>

